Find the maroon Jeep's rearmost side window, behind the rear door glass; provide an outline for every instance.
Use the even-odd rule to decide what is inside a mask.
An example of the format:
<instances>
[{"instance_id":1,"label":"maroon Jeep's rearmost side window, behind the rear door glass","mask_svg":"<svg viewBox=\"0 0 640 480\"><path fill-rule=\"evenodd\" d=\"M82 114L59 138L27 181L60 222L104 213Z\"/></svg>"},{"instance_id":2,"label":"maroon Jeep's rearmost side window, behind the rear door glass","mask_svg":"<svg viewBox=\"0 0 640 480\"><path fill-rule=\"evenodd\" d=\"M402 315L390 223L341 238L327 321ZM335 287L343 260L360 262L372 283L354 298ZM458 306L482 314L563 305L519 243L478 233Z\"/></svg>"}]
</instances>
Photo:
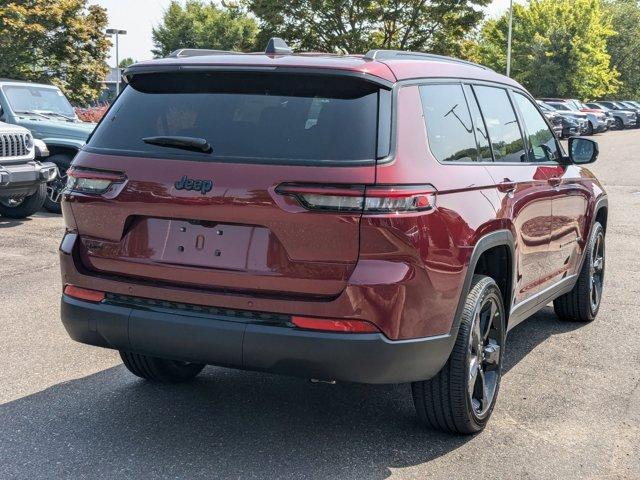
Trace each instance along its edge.
<instances>
[{"instance_id":1,"label":"maroon Jeep's rearmost side window, behind the rear door glass","mask_svg":"<svg viewBox=\"0 0 640 480\"><path fill-rule=\"evenodd\" d=\"M462 85L420 87L429 147L441 162L471 162L478 156Z\"/></svg>"}]
</instances>

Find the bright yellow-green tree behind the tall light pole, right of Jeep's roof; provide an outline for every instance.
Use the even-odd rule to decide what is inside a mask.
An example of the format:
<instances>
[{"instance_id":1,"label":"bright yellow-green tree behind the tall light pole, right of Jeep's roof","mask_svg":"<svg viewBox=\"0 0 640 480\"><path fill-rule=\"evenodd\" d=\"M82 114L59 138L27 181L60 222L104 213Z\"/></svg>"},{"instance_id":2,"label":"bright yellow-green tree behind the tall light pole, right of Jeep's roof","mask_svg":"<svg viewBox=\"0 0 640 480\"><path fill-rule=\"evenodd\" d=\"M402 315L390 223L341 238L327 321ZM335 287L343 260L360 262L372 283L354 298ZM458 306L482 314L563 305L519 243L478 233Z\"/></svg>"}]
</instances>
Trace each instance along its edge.
<instances>
[{"instance_id":1,"label":"bright yellow-green tree behind the tall light pole, right of Jeep's roof","mask_svg":"<svg viewBox=\"0 0 640 480\"><path fill-rule=\"evenodd\" d=\"M514 5L511 75L537 96L593 99L615 93L607 40L615 35L601 0L531 0ZM504 72L508 15L487 21L481 63Z\"/></svg>"}]
</instances>

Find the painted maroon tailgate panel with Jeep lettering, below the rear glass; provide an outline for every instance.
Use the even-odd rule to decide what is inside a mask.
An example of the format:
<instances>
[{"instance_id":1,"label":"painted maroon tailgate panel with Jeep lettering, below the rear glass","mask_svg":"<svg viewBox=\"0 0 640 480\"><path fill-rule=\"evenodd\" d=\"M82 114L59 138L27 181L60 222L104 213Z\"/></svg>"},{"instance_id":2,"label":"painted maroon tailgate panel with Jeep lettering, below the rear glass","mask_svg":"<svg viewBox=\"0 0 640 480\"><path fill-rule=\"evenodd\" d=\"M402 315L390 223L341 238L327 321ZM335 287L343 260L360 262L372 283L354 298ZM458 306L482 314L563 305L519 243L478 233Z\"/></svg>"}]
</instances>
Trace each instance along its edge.
<instances>
[{"instance_id":1,"label":"painted maroon tailgate panel with Jeep lettering, below the rear glass","mask_svg":"<svg viewBox=\"0 0 640 480\"><path fill-rule=\"evenodd\" d=\"M93 270L212 289L336 295L358 258L359 214L304 210L283 182L335 181L335 168L207 165L81 153L76 166L125 172L112 198L74 195L81 258ZM135 165L135 166L134 166ZM178 173L179 172L179 173ZM340 170L358 183L369 167ZM213 189L177 190L181 174Z\"/></svg>"}]
</instances>

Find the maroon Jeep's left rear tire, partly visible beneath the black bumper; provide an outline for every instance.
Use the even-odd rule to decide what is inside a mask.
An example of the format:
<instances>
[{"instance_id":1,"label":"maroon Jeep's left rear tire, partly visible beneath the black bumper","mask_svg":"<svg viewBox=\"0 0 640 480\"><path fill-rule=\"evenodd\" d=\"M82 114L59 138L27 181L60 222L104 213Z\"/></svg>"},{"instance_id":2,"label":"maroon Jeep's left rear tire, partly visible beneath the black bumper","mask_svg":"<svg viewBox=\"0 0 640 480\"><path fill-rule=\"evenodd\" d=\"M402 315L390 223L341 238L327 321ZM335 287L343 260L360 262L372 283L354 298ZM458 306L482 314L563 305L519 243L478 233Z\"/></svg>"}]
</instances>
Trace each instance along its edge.
<instances>
[{"instance_id":1,"label":"maroon Jeep's left rear tire, partly visible beneath the black bumper","mask_svg":"<svg viewBox=\"0 0 640 480\"><path fill-rule=\"evenodd\" d=\"M134 375L157 383L180 383L193 379L204 365L120 352L124 366Z\"/></svg>"}]
</instances>

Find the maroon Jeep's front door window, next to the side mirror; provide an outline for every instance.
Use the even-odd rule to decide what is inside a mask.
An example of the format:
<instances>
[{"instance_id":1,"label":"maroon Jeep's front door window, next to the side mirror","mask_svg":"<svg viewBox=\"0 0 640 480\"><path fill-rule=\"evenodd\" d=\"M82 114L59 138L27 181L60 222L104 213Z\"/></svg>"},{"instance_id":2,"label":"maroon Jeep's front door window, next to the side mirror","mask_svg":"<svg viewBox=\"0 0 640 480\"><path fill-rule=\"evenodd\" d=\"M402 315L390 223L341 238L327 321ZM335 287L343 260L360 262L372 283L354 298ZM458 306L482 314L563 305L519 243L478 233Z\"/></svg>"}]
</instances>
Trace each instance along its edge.
<instances>
[{"instance_id":1,"label":"maroon Jeep's front door window, next to the side mirror","mask_svg":"<svg viewBox=\"0 0 640 480\"><path fill-rule=\"evenodd\" d=\"M516 104L522 114L524 130L529 140L529 157L532 162L549 162L559 158L558 145L553 132L538 109L521 93L515 94Z\"/></svg>"}]
</instances>

